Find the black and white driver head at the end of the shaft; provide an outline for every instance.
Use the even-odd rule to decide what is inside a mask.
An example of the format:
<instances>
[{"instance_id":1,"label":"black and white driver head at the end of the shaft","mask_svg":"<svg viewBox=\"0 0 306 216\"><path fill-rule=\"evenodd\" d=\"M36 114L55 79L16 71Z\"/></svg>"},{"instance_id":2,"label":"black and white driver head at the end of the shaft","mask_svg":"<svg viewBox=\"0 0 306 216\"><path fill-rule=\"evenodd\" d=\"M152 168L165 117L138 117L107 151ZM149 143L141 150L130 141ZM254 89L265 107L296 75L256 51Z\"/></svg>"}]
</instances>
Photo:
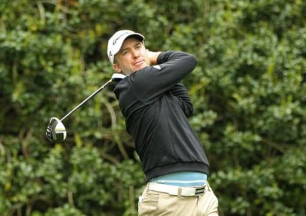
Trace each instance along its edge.
<instances>
[{"instance_id":1,"label":"black and white driver head at the end of the shaft","mask_svg":"<svg viewBox=\"0 0 306 216\"><path fill-rule=\"evenodd\" d=\"M56 117L52 117L47 126L46 137L52 142L64 141L66 139L66 128Z\"/></svg>"}]
</instances>

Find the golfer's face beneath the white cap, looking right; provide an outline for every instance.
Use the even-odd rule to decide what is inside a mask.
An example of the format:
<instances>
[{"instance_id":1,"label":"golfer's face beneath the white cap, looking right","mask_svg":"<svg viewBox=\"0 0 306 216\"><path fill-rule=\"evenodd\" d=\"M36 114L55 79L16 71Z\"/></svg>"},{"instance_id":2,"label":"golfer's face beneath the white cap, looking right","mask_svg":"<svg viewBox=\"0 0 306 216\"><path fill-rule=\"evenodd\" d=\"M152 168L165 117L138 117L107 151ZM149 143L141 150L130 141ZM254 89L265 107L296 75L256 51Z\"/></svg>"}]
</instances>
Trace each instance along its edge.
<instances>
[{"instance_id":1,"label":"golfer's face beneath the white cap, looking right","mask_svg":"<svg viewBox=\"0 0 306 216\"><path fill-rule=\"evenodd\" d=\"M120 51L115 56L113 68L126 75L134 73L143 67L149 66L149 57L144 44L136 38L126 39Z\"/></svg>"}]
</instances>

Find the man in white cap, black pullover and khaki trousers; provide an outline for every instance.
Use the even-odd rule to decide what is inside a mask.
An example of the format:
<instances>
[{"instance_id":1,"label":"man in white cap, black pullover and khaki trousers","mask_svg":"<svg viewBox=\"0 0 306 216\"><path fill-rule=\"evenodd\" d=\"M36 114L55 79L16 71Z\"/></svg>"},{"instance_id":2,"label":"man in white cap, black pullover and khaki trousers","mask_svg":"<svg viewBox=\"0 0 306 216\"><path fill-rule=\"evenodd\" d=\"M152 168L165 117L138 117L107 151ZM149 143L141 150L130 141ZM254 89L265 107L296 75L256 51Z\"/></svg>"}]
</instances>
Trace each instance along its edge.
<instances>
[{"instance_id":1,"label":"man in white cap, black pullover and khaki trousers","mask_svg":"<svg viewBox=\"0 0 306 216\"><path fill-rule=\"evenodd\" d=\"M146 177L139 215L218 215L207 182L209 163L188 123L193 105L181 80L197 64L183 52L150 52L144 36L120 30L108 40L114 88Z\"/></svg>"}]
</instances>

